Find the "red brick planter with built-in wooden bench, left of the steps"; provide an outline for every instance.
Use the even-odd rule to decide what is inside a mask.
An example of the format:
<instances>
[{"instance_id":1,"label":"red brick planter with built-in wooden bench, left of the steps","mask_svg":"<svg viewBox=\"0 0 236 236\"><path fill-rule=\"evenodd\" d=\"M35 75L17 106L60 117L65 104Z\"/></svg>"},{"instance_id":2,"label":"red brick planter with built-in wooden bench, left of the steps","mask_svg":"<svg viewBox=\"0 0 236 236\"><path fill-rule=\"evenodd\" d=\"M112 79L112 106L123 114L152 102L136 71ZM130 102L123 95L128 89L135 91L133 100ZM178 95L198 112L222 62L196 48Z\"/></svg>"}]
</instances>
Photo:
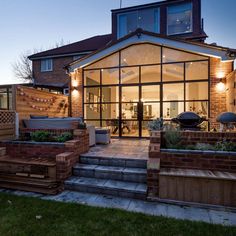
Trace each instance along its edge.
<instances>
[{"instance_id":1,"label":"red brick planter with built-in wooden bench, left of the steps","mask_svg":"<svg viewBox=\"0 0 236 236\"><path fill-rule=\"evenodd\" d=\"M63 190L63 182L71 176L79 155L89 150L89 137L86 129L75 130L74 139L65 143L4 141L0 147L5 150L0 156L0 186L57 193ZM22 184L27 178L32 182L29 187Z\"/></svg>"}]
</instances>

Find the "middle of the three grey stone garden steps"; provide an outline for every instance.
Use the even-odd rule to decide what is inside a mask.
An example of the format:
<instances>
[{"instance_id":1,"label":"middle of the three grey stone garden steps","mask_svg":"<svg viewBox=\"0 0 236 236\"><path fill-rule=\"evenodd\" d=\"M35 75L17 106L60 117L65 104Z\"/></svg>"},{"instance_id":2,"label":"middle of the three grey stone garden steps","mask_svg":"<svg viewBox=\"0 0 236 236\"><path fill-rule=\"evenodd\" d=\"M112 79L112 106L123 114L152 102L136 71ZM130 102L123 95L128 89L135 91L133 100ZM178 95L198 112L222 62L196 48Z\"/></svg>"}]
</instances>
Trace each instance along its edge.
<instances>
[{"instance_id":1,"label":"middle of the three grey stone garden steps","mask_svg":"<svg viewBox=\"0 0 236 236\"><path fill-rule=\"evenodd\" d=\"M113 179L136 183L147 182L147 170L143 168L76 164L73 174L80 177Z\"/></svg>"}]
</instances>

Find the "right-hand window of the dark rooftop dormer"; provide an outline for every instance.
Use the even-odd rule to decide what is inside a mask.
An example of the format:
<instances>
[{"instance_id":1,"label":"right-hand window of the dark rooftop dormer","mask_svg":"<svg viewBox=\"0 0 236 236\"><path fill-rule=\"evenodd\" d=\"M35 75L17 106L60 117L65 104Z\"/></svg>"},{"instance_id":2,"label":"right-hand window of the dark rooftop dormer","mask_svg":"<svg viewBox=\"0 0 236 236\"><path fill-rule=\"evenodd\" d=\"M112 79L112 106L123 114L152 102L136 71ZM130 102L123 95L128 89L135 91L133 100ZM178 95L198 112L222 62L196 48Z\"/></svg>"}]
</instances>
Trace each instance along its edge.
<instances>
[{"instance_id":1,"label":"right-hand window of the dark rooftop dormer","mask_svg":"<svg viewBox=\"0 0 236 236\"><path fill-rule=\"evenodd\" d=\"M167 8L167 34L185 34L193 31L192 3Z\"/></svg>"}]
</instances>

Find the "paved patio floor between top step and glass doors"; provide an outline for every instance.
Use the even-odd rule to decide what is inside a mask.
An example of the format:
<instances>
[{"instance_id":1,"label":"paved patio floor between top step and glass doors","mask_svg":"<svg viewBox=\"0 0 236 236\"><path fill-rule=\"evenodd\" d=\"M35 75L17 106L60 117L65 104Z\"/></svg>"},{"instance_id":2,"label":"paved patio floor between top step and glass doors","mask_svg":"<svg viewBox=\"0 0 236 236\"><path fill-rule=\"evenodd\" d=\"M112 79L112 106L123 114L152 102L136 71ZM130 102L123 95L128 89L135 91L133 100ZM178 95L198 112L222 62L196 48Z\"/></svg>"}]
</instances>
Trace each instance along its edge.
<instances>
[{"instance_id":1,"label":"paved patio floor between top step and glass doors","mask_svg":"<svg viewBox=\"0 0 236 236\"><path fill-rule=\"evenodd\" d=\"M147 160L148 145L147 139L112 139L108 145L91 147L86 155Z\"/></svg>"}]
</instances>

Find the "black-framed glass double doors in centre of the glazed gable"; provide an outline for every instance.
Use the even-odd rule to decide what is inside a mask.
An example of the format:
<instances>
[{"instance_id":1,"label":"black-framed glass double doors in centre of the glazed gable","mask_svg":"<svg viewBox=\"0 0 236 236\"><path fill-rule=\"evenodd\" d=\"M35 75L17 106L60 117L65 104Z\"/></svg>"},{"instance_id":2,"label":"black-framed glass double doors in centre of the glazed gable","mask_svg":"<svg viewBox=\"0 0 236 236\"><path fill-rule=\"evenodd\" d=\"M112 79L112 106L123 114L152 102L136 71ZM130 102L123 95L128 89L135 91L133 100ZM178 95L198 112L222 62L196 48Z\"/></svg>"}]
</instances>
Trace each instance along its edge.
<instances>
[{"instance_id":1,"label":"black-framed glass double doors in centre of the glazed gable","mask_svg":"<svg viewBox=\"0 0 236 236\"><path fill-rule=\"evenodd\" d=\"M121 87L120 136L149 137L148 122L160 117L160 85Z\"/></svg>"}]
</instances>

